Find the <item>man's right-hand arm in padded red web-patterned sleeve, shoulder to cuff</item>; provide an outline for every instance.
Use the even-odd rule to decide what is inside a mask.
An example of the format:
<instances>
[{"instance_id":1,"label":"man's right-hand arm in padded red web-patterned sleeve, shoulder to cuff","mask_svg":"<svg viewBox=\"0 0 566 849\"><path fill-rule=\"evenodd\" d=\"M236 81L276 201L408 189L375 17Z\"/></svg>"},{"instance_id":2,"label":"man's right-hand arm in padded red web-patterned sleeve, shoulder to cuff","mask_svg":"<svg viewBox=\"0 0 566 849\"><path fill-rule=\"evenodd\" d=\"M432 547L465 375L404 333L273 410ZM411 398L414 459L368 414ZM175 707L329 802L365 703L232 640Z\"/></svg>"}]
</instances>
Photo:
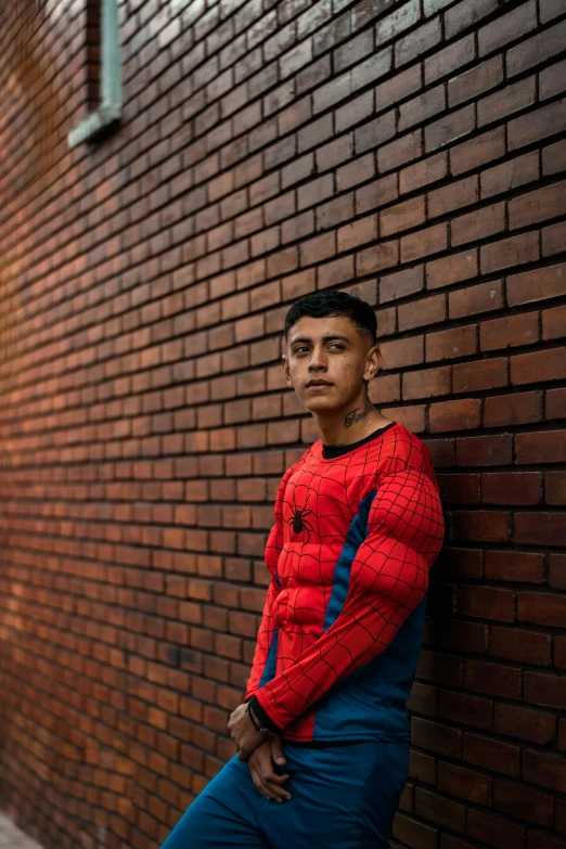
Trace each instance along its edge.
<instances>
[{"instance_id":1,"label":"man's right-hand arm in padded red web-patterned sleeve, shoulder to cuff","mask_svg":"<svg viewBox=\"0 0 566 849\"><path fill-rule=\"evenodd\" d=\"M430 478L412 468L383 478L344 607L285 672L256 692L250 705L262 724L283 730L389 645L423 600L442 539L442 509Z\"/></svg>"}]
</instances>

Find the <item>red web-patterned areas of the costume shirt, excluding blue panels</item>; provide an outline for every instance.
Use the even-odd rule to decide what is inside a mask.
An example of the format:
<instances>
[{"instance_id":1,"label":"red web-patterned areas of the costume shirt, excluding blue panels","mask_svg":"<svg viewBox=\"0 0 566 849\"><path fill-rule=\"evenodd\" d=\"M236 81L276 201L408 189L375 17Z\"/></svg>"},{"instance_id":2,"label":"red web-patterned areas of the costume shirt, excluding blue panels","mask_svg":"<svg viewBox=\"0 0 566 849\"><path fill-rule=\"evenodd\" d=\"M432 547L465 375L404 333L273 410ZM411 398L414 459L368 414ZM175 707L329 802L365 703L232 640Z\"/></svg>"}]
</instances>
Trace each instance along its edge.
<instances>
[{"instance_id":1,"label":"red web-patterned areas of the costume shirt, excluding blue panels","mask_svg":"<svg viewBox=\"0 0 566 849\"><path fill-rule=\"evenodd\" d=\"M371 493L366 533L346 557L342 608L325 628L336 564ZM297 510L310 511L308 527L294 527ZM246 698L256 695L286 739L312 739L319 699L390 645L426 595L442 539L430 455L401 424L334 460L322 456L319 440L285 473L266 546L272 580ZM268 669L275 629L276 667L272 657Z\"/></svg>"}]
</instances>

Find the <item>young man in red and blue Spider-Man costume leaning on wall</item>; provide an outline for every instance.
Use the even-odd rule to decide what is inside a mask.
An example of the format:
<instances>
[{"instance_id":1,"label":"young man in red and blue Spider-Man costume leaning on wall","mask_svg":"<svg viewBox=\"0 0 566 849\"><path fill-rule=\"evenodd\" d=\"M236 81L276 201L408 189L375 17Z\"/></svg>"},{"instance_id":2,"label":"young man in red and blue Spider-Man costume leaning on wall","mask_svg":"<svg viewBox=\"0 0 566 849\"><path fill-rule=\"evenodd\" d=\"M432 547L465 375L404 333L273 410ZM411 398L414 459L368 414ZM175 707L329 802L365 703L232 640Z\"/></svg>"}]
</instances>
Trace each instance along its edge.
<instances>
[{"instance_id":1,"label":"young man in red and blue Spider-Man costume leaning on wall","mask_svg":"<svg viewBox=\"0 0 566 849\"><path fill-rule=\"evenodd\" d=\"M239 755L163 849L389 846L443 519L426 447L369 401L375 336L371 307L343 293L287 313L283 369L320 439L276 494L271 583L229 722Z\"/></svg>"}]
</instances>

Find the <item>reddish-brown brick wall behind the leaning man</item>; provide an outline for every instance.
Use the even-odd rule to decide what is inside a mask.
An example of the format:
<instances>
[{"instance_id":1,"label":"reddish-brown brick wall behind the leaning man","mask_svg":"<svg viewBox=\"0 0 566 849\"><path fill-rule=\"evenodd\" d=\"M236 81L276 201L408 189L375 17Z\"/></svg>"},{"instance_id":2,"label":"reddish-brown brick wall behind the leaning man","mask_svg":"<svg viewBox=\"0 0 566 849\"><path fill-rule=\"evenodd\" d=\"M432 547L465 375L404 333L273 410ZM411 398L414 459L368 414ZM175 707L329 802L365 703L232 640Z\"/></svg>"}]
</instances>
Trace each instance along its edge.
<instances>
[{"instance_id":1,"label":"reddish-brown brick wall behind the leaning man","mask_svg":"<svg viewBox=\"0 0 566 849\"><path fill-rule=\"evenodd\" d=\"M154 849L233 749L283 471L316 436L282 322L375 306L372 399L448 539L393 846L566 846L564 0L3 7L1 806ZM562 550L562 553L561 553Z\"/></svg>"}]
</instances>

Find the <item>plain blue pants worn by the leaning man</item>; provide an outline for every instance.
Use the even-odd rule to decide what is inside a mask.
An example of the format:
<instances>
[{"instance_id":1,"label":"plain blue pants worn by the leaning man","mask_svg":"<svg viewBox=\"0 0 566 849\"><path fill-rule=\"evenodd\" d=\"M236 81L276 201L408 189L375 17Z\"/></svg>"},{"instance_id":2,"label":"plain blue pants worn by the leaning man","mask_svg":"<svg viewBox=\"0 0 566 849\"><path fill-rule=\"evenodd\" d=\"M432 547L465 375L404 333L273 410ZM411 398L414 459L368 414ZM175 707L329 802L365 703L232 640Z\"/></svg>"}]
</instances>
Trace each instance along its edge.
<instances>
[{"instance_id":1,"label":"plain blue pants worn by the leaning man","mask_svg":"<svg viewBox=\"0 0 566 849\"><path fill-rule=\"evenodd\" d=\"M162 849L387 849L409 774L409 741L285 745L293 798L262 796L234 756L197 796Z\"/></svg>"}]
</instances>

